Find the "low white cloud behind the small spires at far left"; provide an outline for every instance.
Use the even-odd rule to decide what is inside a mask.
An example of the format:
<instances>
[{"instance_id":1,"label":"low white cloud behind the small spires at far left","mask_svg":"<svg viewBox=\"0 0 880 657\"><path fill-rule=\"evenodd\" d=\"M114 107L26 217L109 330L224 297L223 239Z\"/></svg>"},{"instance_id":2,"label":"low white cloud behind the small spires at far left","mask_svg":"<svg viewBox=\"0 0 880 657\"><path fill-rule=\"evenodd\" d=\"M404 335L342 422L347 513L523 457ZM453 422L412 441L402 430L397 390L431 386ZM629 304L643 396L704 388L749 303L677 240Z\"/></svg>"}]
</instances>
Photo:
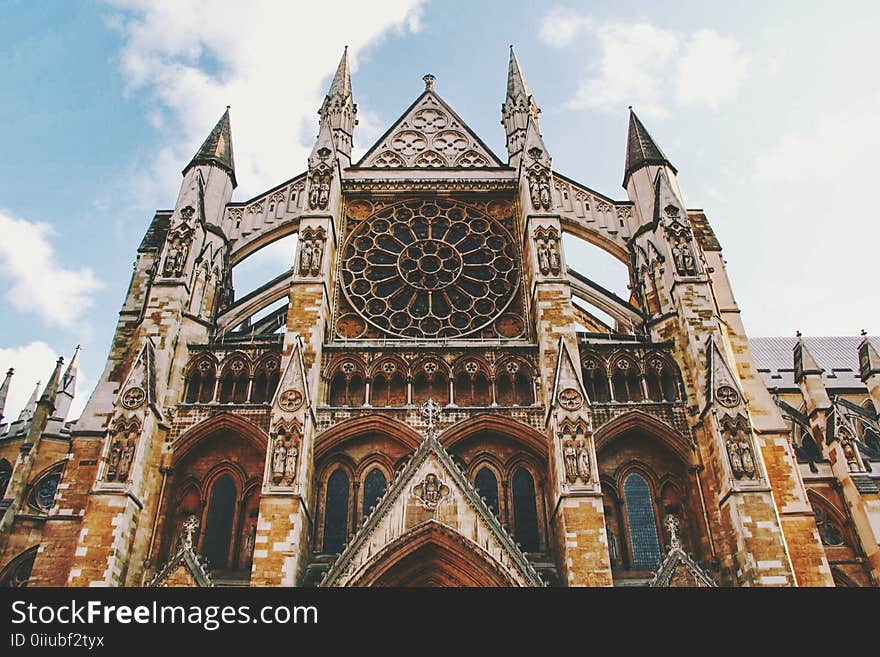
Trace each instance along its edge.
<instances>
[{"instance_id":1,"label":"low white cloud behind the small spires at far left","mask_svg":"<svg viewBox=\"0 0 880 657\"><path fill-rule=\"evenodd\" d=\"M4 422L11 422L18 418L21 409L24 408L33 393L37 381L40 381L39 394L42 394L46 382L52 375L55 361L58 360L61 353L42 341L18 347L0 347L0 368L2 368L0 377L5 377L6 371L10 367L15 370L9 386L9 396L6 399L6 410L3 413ZM65 361L68 361L72 355L72 353L65 353ZM67 367L66 362L64 367ZM92 384L93 382L83 374L82 366L80 366L73 404L67 416L68 420L79 417L91 392Z\"/></svg>"}]
</instances>

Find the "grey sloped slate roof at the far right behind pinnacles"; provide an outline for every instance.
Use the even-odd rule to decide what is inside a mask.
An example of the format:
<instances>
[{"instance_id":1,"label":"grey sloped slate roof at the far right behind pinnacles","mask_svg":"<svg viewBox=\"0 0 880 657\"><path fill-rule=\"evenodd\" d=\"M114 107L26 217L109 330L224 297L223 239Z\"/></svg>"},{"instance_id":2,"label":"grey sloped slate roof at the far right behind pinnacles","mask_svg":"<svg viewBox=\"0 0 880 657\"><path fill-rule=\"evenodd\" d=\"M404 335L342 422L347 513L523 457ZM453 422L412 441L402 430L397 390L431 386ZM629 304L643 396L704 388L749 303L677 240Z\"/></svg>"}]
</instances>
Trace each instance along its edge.
<instances>
[{"instance_id":1,"label":"grey sloped slate roof at the far right behind pinnacles","mask_svg":"<svg viewBox=\"0 0 880 657\"><path fill-rule=\"evenodd\" d=\"M880 345L880 338L869 337L875 348ZM859 345L862 337L858 335L805 337L804 343L816 359L816 363L824 369L822 379L830 389L856 388L864 389L865 385L859 378ZM794 382L793 350L797 338L771 337L751 338L749 346L755 357L764 384L768 388L791 388L796 390Z\"/></svg>"}]
</instances>

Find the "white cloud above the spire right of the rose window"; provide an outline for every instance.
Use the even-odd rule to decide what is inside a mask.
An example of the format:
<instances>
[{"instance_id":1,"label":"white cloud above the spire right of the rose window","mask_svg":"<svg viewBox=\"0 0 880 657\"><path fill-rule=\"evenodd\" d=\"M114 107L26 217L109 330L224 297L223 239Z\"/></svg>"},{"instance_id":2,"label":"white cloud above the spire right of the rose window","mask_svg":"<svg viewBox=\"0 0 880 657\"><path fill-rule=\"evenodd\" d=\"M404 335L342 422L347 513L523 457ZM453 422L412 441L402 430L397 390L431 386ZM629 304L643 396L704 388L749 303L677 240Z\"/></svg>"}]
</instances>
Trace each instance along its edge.
<instances>
[{"instance_id":1,"label":"white cloud above the spire right of the rose window","mask_svg":"<svg viewBox=\"0 0 880 657\"><path fill-rule=\"evenodd\" d=\"M714 30L688 35L646 21L597 22L565 7L541 21L541 39L551 46L573 45L579 35L598 45L599 56L565 103L569 109L634 105L642 116L662 117L673 104L717 108L736 97L749 61L735 39ZM588 61L597 61L595 53Z\"/></svg>"}]
</instances>

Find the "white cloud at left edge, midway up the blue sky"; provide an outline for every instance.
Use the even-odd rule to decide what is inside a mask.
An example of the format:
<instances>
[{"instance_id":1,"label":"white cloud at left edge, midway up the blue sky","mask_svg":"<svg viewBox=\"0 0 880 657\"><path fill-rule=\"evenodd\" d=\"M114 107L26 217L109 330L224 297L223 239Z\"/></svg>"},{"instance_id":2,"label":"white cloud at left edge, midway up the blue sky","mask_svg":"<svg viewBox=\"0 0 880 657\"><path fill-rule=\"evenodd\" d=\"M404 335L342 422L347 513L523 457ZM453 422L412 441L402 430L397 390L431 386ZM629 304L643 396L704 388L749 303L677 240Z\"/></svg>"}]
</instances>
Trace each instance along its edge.
<instances>
[{"instance_id":1,"label":"white cloud at left edge, midway up the blue sky","mask_svg":"<svg viewBox=\"0 0 880 657\"><path fill-rule=\"evenodd\" d=\"M60 265L49 242L53 234L49 224L0 210L0 276L10 280L6 299L17 310L71 327L93 305L92 293L103 283L88 267L73 270Z\"/></svg>"}]
</instances>

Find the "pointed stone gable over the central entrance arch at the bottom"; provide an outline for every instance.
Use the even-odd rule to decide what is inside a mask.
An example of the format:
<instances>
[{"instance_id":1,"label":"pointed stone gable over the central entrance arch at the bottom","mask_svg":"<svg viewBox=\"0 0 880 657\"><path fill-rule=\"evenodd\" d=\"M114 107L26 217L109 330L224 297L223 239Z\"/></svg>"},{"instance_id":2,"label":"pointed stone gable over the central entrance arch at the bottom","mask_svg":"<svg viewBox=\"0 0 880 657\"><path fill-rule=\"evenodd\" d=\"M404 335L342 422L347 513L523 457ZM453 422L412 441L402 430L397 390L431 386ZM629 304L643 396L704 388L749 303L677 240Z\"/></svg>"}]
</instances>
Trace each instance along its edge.
<instances>
[{"instance_id":1,"label":"pointed stone gable over the central entrance arch at the bottom","mask_svg":"<svg viewBox=\"0 0 880 657\"><path fill-rule=\"evenodd\" d=\"M543 586L516 541L440 444L431 420L427 434L321 586L357 585L389 548L434 528L435 533L454 537L510 585Z\"/></svg>"}]
</instances>

